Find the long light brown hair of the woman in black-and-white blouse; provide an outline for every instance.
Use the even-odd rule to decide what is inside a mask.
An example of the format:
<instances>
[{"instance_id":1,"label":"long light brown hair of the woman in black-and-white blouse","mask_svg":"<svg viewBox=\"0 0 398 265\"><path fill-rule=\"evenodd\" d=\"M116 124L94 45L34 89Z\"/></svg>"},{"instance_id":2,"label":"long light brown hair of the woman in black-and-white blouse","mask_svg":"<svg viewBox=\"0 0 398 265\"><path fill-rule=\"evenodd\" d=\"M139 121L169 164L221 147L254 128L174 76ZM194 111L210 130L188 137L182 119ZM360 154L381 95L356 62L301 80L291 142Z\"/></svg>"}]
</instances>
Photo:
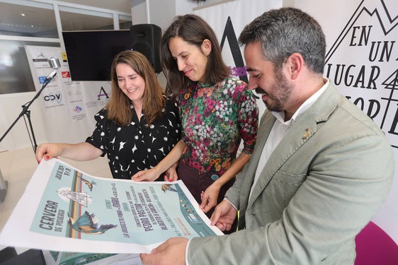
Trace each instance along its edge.
<instances>
[{"instance_id":1,"label":"long light brown hair of the woman in black-and-white blouse","mask_svg":"<svg viewBox=\"0 0 398 265\"><path fill-rule=\"evenodd\" d=\"M119 125L132 122L131 100L118 86L116 66L127 64L144 79L145 90L143 95L142 113L145 114L147 124L152 124L163 114L166 98L164 89L160 86L156 73L147 57L136 51L124 51L115 56L110 67L111 95L106 104L108 119Z\"/></svg>"}]
</instances>

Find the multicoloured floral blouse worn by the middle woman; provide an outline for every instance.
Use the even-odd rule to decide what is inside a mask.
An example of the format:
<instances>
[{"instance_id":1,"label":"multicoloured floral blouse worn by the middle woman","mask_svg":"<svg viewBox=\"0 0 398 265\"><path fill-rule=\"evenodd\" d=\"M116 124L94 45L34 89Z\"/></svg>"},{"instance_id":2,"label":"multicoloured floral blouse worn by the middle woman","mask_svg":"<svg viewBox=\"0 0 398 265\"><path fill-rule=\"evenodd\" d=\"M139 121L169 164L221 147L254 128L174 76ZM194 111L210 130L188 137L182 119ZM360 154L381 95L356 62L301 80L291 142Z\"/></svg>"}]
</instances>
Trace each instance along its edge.
<instances>
[{"instance_id":1,"label":"multicoloured floral blouse worn by the middle woman","mask_svg":"<svg viewBox=\"0 0 398 265\"><path fill-rule=\"evenodd\" d=\"M258 107L246 83L229 77L210 86L197 83L179 96L181 140L187 144L181 159L200 173L221 176L242 152L251 155L256 144Z\"/></svg>"}]
</instances>

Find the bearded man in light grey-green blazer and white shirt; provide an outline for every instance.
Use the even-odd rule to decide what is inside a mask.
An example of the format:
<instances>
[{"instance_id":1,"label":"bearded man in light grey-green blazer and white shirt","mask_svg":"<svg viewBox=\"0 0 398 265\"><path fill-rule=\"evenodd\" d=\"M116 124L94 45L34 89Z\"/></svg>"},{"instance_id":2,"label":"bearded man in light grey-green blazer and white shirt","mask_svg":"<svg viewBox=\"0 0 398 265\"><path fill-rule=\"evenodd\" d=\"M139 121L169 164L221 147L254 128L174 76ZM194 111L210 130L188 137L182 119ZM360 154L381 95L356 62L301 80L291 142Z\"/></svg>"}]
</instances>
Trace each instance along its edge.
<instances>
[{"instance_id":1,"label":"bearded man in light grey-green blazer and white shirt","mask_svg":"<svg viewBox=\"0 0 398 265\"><path fill-rule=\"evenodd\" d=\"M295 8L263 13L239 37L266 111L256 148L212 224L238 231L171 238L144 264L353 264L355 237L394 176L380 128L322 77L325 38Z\"/></svg>"}]
</instances>

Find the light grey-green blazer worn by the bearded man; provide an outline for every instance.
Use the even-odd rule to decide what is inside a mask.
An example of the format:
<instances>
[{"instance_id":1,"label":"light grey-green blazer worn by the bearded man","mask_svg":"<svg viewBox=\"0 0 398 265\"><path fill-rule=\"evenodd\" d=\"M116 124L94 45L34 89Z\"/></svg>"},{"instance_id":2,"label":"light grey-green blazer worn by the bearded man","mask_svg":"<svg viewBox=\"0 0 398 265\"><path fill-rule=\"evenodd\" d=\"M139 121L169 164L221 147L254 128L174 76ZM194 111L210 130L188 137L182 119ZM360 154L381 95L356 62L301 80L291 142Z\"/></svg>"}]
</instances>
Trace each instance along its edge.
<instances>
[{"instance_id":1,"label":"light grey-green blazer worn by the bearded man","mask_svg":"<svg viewBox=\"0 0 398 265\"><path fill-rule=\"evenodd\" d=\"M274 122L266 110L254 153L225 196L239 209L239 231L194 238L189 264L353 264L354 239L392 184L390 143L329 85L275 148L249 200Z\"/></svg>"}]
</instances>

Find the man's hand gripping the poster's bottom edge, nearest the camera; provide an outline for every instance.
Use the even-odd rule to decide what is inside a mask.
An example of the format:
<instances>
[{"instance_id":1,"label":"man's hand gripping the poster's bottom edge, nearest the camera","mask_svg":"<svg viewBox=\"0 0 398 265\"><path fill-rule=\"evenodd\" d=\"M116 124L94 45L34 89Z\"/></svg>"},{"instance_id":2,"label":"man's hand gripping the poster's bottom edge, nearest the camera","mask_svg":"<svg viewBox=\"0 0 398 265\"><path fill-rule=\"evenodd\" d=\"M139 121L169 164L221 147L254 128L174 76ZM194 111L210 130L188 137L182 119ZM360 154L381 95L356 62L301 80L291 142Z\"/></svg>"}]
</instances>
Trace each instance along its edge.
<instances>
[{"instance_id":1,"label":"man's hand gripping the poster's bottom edge, nearest the camera","mask_svg":"<svg viewBox=\"0 0 398 265\"><path fill-rule=\"evenodd\" d=\"M185 252L188 238L171 237L169 240L152 249L150 254L140 254L143 264L161 265L161 264L185 264Z\"/></svg>"}]
</instances>

